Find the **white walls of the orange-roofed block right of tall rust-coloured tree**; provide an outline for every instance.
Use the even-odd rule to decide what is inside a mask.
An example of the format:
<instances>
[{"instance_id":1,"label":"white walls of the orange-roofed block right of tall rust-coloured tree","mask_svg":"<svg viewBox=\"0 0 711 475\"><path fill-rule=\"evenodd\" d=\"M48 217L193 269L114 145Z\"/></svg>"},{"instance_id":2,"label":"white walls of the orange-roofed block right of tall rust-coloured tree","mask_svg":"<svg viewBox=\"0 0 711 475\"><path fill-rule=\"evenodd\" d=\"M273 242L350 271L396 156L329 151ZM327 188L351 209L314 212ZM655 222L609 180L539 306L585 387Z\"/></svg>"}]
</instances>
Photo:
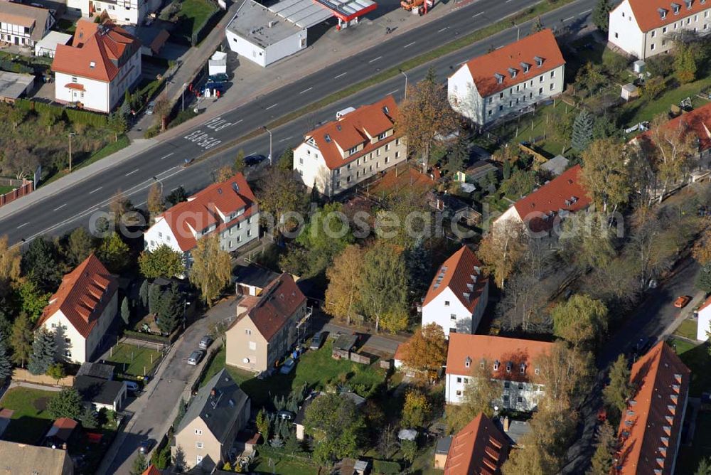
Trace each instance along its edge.
<instances>
[{"instance_id":1,"label":"white walls of the orange-roofed block right of tall rust-coloured tree","mask_svg":"<svg viewBox=\"0 0 711 475\"><path fill-rule=\"evenodd\" d=\"M536 66L531 68L535 71ZM451 75L447 82L449 104L472 122L485 125L509 114L523 112L536 102L559 95L563 92L564 75L565 65L561 65L509 86L501 92L482 97L471 78L469 66L465 64Z\"/></svg>"}]
</instances>

